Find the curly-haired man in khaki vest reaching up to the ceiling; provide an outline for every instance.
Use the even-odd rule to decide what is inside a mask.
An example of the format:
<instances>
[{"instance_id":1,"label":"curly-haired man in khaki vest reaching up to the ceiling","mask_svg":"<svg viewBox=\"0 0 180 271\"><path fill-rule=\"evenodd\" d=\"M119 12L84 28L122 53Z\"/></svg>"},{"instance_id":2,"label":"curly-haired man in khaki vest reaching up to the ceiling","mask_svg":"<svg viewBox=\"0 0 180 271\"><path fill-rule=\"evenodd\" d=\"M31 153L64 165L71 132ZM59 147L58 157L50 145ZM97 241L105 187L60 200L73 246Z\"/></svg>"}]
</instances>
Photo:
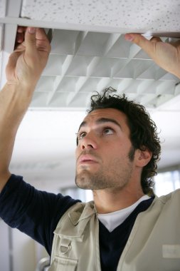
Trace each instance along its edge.
<instances>
[{"instance_id":1,"label":"curly-haired man in khaki vest reaching up to the ceiling","mask_svg":"<svg viewBox=\"0 0 180 271\"><path fill-rule=\"evenodd\" d=\"M180 42L125 38L180 78ZM50 52L42 29L26 29L23 41L19 28L17 41L0 93L1 218L46 247L51 271L179 270L180 193L147 195L160 145L143 106L108 89L92 97L78 131L75 182L92 189L94 203L38 191L11 175L16 131Z\"/></svg>"}]
</instances>

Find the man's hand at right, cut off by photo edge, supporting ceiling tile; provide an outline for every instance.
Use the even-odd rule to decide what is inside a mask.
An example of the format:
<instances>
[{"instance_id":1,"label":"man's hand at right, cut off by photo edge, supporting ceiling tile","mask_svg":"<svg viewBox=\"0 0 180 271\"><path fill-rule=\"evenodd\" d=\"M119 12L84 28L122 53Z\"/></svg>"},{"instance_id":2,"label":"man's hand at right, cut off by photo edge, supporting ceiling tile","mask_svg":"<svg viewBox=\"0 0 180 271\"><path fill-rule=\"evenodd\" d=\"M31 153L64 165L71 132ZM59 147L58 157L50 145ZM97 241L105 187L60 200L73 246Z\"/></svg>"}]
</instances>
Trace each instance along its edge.
<instances>
[{"instance_id":1,"label":"man's hand at right, cut off by photo edge, supporting ceiling tile","mask_svg":"<svg viewBox=\"0 0 180 271\"><path fill-rule=\"evenodd\" d=\"M125 39L139 45L161 68L180 78L180 39L171 44L155 37L148 41L140 34L126 34Z\"/></svg>"}]
</instances>

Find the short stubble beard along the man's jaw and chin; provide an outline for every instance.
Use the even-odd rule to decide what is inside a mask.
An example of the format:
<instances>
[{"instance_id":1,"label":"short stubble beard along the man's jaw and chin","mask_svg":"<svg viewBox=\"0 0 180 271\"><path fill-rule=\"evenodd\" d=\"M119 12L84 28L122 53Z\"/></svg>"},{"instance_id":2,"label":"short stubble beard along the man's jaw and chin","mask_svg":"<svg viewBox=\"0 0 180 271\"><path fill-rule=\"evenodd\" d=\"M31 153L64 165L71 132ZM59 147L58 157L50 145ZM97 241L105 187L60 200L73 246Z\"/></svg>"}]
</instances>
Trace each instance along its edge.
<instances>
[{"instance_id":1,"label":"short stubble beard along the man's jaw and chin","mask_svg":"<svg viewBox=\"0 0 180 271\"><path fill-rule=\"evenodd\" d=\"M132 176L132 161L134 160L134 148L129 150L127 161L116 158L111 161L108 168L100 168L91 173L84 168L80 173L76 172L75 184L78 188L100 190L106 188L123 188Z\"/></svg>"}]
</instances>

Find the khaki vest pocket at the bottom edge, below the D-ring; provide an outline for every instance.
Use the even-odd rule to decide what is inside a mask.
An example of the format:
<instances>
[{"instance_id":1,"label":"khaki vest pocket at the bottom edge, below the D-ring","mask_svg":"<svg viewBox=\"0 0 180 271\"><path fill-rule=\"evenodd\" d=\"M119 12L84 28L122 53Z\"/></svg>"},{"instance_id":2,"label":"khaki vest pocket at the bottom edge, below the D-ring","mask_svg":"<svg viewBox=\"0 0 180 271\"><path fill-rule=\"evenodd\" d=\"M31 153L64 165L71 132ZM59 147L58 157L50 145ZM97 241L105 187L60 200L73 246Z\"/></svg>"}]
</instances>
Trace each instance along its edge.
<instances>
[{"instance_id":1,"label":"khaki vest pocket at the bottom edge, below the D-ring","mask_svg":"<svg viewBox=\"0 0 180 271\"><path fill-rule=\"evenodd\" d=\"M48 271L75 271L77 270L78 260L55 256Z\"/></svg>"}]
</instances>

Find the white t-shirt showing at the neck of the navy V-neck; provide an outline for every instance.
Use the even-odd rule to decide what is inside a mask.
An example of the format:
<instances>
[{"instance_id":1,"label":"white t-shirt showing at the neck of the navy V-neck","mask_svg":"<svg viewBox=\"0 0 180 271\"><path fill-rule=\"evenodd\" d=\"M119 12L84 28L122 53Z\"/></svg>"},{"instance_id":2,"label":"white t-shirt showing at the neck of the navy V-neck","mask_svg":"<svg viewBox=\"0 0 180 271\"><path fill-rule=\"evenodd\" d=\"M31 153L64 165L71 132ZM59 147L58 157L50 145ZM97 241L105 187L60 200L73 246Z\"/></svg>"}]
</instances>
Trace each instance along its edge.
<instances>
[{"instance_id":1,"label":"white t-shirt showing at the neck of the navy V-neck","mask_svg":"<svg viewBox=\"0 0 180 271\"><path fill-rule=\"evenodd\" d=\"M132 204L131 206L118 210L116 212L107 213L107 214L97 214L98 219L100 222L105 225L109 232L115 230L117 226L122 224L125 219L134 211L134 209L141 203L143 200L148 200L150 197L148 195L143 195L142 198L139 198L136 203Z\"/></svg>"}]
</instances>

